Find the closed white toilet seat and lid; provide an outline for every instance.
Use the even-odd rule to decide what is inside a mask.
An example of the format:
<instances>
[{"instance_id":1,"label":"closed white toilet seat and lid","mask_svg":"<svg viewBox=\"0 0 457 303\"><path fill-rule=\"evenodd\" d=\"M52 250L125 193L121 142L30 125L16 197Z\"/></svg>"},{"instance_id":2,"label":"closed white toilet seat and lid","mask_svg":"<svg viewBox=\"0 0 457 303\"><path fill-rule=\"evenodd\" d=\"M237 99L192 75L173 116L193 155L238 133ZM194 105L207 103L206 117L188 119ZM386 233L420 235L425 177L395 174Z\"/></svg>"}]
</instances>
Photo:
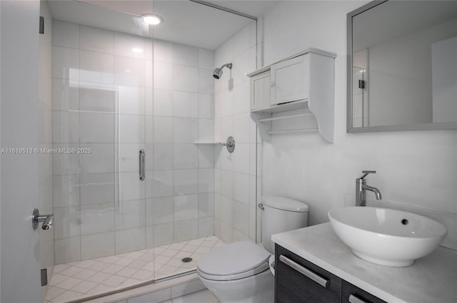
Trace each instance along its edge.
<instances>
[{"instance_id":1,"label":"closed white toilet seat and lid","mask_svg":"<svg viewBox=\"0 0 457 303\"><path fill-rule=\"evenodd\" d=\"M243 279L268 270L269 258L267 250L251 241L233 242L202 257L197 273L215 281Z\"/></svg>"}]
</instances>

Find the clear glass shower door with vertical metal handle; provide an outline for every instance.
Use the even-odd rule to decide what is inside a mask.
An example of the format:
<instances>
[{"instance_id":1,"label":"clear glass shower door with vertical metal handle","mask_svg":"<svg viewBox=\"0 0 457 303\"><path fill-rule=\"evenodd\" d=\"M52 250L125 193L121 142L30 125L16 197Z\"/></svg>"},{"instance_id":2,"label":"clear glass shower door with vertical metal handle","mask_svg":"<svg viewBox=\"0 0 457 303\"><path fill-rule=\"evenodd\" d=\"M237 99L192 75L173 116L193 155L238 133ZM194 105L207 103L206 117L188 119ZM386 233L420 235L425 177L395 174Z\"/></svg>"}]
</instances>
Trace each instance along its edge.
<instances>
[{"instance_id":1,"label":"clear glass shower door with vertical metal handle","mask_svg":"<svg viewBox=\"0 0 457 303\"><path fill-rule=\"evenodd\" d=\"M52 155L50 302L154 281L152 26L96 4L47 2L53 148L71 150Z\"/></svg>"}]
</instances>

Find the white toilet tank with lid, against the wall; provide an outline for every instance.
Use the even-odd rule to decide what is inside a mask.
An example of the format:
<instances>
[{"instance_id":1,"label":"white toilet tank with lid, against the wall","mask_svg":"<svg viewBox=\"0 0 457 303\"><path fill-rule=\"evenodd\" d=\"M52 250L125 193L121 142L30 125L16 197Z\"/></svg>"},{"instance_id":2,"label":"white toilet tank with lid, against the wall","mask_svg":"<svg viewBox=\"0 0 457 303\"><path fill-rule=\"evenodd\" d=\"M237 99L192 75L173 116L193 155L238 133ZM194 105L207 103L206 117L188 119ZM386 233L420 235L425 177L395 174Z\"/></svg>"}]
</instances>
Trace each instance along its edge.
<instances>
[{"instance_id":1,"label":"white toilet tank with lid, against the wall","mask_svg":"<svg viewBox=\"0 0 457 303\"><path fill-rule=\"evenodd\" d=\"M308 225L308 205L286 197L262 198L262 245L274 253L271 235Z\"/></svg>"}]
</instances>

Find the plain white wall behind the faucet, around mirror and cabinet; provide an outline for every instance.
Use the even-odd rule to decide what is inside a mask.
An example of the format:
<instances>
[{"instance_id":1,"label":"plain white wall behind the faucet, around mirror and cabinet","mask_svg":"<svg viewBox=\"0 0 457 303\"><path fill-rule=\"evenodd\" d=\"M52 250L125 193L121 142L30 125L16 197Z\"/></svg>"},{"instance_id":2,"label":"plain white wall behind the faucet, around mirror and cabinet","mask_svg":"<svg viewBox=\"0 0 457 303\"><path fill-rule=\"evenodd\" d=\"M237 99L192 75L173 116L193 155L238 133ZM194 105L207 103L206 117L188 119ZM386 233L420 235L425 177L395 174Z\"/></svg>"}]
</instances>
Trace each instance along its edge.
<instances>
[{"instance_id":1,"label":"plain white wall behind the faucet, around mirror and cabinet","mask_svg":"<svg viewBox=\"0 0 457 303\"><path fill-rule=\"evenodd\" d=\"M283 1L264 15L265 64L308 46L338 56L334 143L316 134L276 135L263 143L263 194L306 201L309 222L316 225L328 221L331 208L355 204L361 170L377 170L368 184L381 190L384 206L443 222L443 245L457 249L457 130L346 133L346 14L365 3Z\"/></svg>"}]
</instances>

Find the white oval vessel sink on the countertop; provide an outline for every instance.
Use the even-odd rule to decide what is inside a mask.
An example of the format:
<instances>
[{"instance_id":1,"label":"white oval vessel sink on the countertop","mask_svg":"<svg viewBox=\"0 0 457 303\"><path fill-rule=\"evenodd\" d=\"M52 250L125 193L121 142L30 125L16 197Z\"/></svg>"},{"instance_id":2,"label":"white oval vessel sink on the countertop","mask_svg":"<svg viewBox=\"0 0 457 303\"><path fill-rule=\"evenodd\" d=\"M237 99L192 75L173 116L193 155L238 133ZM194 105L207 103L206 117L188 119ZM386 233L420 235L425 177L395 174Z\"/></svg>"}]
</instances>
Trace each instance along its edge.
<instances>
[{"instance_id":1,"label":"white oval vessel sink on the countertop","mask_svg":"<svg viewBox=\"0 0 457 303\"><path fill-rule=\"evenodd\" d=\"M377 207L330 210L328 219L340 239L363 260L405 267L436 250L447 230L428 217Z\"/></svg>"}]
</instances>

